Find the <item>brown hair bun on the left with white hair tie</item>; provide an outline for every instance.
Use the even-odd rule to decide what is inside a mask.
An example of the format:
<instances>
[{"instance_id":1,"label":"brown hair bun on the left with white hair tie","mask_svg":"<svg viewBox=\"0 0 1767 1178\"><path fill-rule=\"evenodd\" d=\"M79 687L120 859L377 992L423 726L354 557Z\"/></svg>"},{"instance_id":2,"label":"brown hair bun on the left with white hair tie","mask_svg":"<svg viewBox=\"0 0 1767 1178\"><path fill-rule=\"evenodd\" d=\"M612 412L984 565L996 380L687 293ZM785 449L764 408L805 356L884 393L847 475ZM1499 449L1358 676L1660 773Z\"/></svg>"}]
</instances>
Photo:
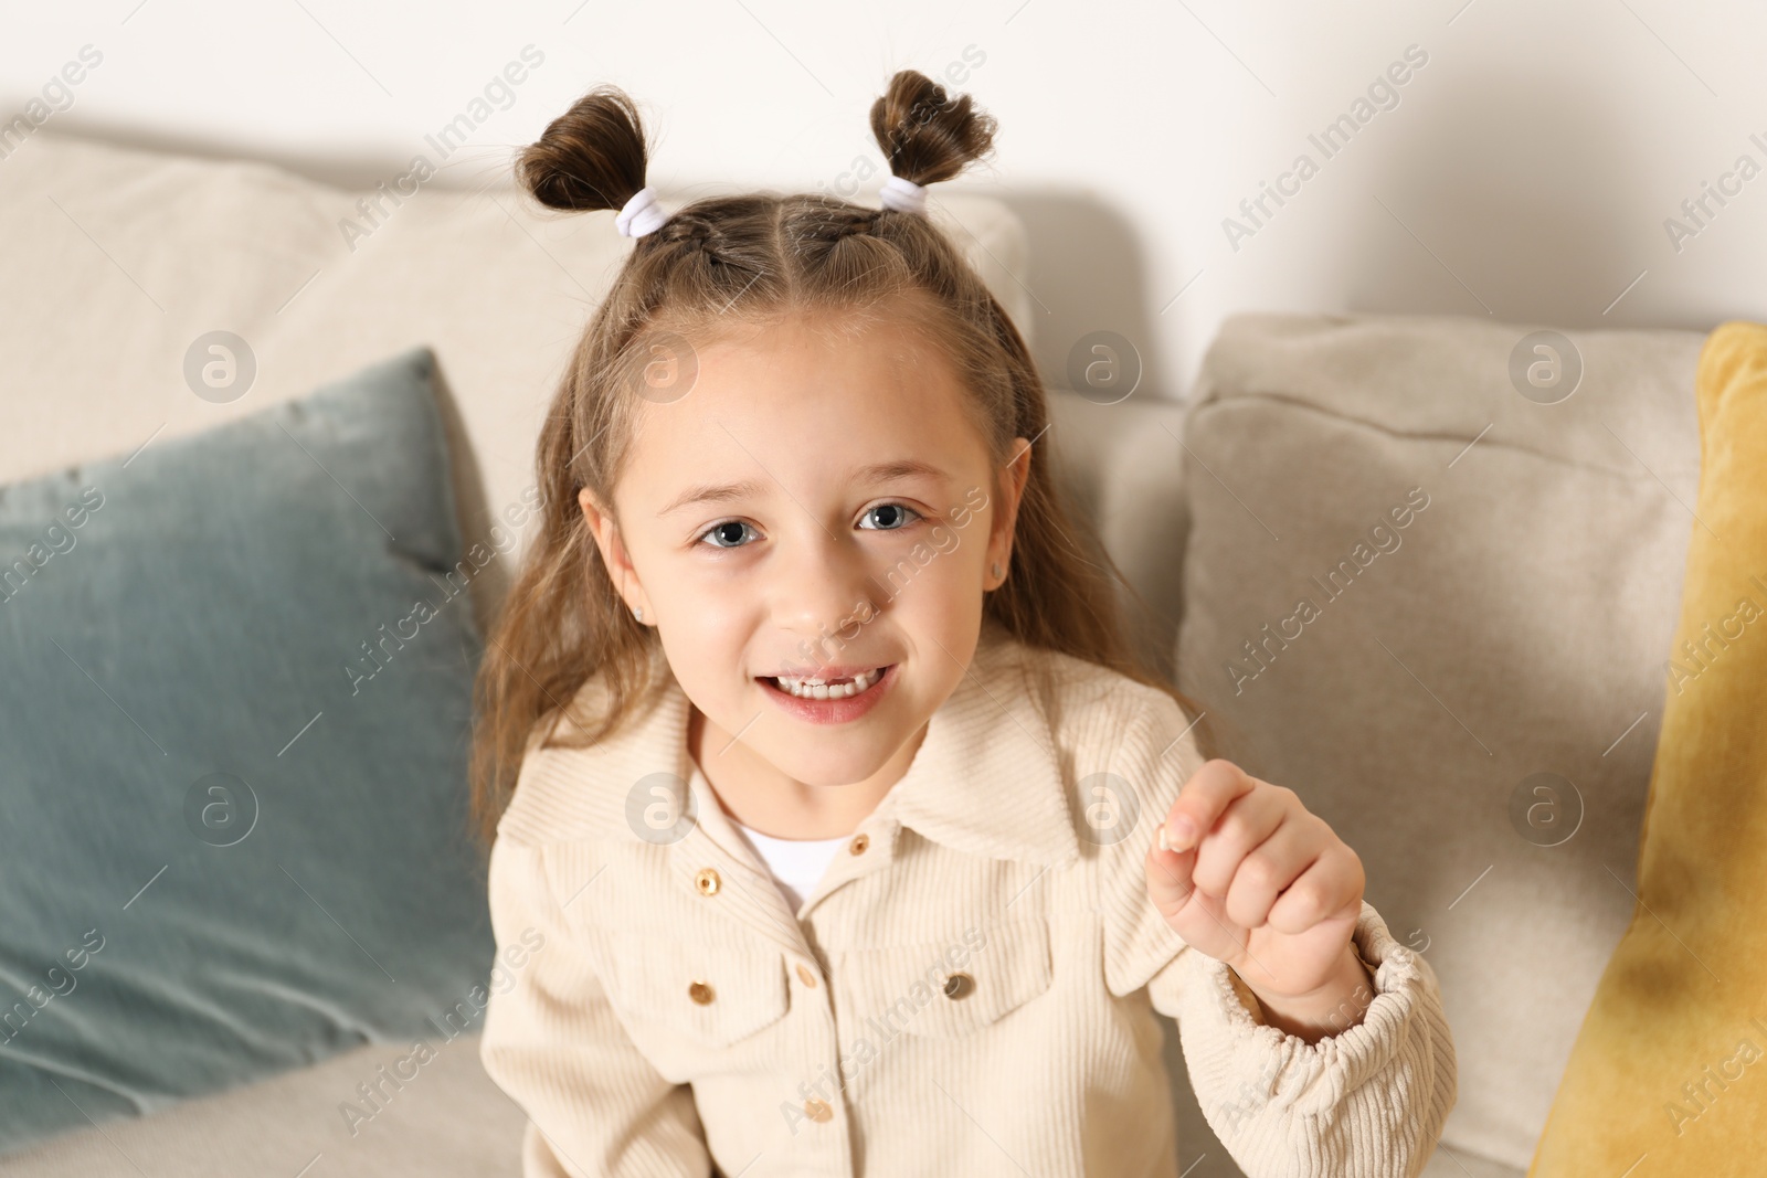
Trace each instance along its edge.
<instances>
[{"instance_id":1,"label":"brown hair bun on the left with white hair tie","mask_svg":"<svg viewBox=\"0 0 1767 1178\"><path fill-rule=\"evenodd\" d=\"M516 155L516 177L542 205L622 208L645 187L645 131L618 87L595 87Z\"/></svg>"}]
</instances>

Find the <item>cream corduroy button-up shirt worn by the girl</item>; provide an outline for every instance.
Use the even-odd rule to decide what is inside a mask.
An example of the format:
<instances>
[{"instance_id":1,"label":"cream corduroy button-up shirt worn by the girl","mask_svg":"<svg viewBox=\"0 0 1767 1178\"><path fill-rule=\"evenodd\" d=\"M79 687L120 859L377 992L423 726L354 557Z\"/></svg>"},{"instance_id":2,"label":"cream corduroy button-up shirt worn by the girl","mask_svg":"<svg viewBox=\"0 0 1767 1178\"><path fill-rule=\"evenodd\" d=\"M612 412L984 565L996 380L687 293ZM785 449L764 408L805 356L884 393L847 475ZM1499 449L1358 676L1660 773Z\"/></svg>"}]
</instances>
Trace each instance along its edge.
<instances>
[{"instance_id":1,"label":"cream corduroy button-up shirt worn by the girl","mask_svg":"<svg viewBox=\"0 0 1767 1178\"><path fill-rule=\"evenodd\" d=\"M1202 765L1170 696L990 623L797 911L687 715L670 676L595 747L530 742L498 827L512 984L481 1051L530 1116L528 1178L1170 1178L1156 1010L1251 1178L1422 1169L1454 1046L1435 973L1373 906L1354 933L1373 1005L1309 1046L1149 901L1147 848Z\"/></svg>"}]
</instances>

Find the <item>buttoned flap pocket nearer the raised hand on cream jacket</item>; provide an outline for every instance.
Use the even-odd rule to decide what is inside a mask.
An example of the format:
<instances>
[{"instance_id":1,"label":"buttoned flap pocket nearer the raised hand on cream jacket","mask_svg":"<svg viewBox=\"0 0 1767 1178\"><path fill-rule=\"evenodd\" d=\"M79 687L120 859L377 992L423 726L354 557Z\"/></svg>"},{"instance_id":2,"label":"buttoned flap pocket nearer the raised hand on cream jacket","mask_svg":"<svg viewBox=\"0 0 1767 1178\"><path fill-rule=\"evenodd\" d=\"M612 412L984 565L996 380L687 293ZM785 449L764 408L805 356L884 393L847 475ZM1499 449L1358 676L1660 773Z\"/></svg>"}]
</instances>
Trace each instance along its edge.
<instances>
[{"instance_id":1,"label":"buttoned flap pocket nearer the raised hand on cream jacket","mask_svg":"<svg viewBox=\"0 0 1767 1178\"><path fill-rule=\"evenodd\" d=\"M1050 989L1050 925L1002 920L942 941L846 950L836 971L855 1019L926 1038L974 1035Z\"/></svg>"}]
</instances>

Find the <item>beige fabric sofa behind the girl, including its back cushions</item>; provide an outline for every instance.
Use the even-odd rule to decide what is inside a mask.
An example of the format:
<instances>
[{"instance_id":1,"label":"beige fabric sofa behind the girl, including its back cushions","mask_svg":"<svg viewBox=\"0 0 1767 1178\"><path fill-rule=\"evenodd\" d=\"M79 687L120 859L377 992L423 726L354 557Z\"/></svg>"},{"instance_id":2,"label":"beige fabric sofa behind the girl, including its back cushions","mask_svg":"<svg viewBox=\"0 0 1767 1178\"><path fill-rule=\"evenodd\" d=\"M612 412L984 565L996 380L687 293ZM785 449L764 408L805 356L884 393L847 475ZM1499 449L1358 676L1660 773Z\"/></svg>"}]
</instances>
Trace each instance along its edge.
<instances>
[{"instance_id":1,"label":"beige fabric sofa behind the girl, including its back cushions","mask_svg":"<svg viewBox=\"0 0 1767 1178\"><path fill-rule=\"evenodd\" d=\"M32 136L0 182L7 268L35 295L0 318L0 484L196 438L428 346L447 510L486 535L532 484L541 413L629 242L611 215L537 210L507 177L341 233L362 196ZM1009 196L942 185L933 205L1035 332L1034 244ZM249 341L251 389L191 396L187 348L221 328ZM1442 982L1460 1097L1431 1176L1525 1171L1633 911L1695 523L1700 339L1246 313L1182 399L1051 392L1046 452L1124 570L1145 657L1203 705L1217 754L1297 789L1357 850L1368 899ZM479 632L518 555L472 581ZM302 1044L299 1067L87 1118L0 1167L516 1174L525 1118L472 1028L368 1123L341 1113L410 1051L373 1033ZM1170 1026L1166 1054L1186 1174L1237 1174Z\"/></svg>"}]
</instances>

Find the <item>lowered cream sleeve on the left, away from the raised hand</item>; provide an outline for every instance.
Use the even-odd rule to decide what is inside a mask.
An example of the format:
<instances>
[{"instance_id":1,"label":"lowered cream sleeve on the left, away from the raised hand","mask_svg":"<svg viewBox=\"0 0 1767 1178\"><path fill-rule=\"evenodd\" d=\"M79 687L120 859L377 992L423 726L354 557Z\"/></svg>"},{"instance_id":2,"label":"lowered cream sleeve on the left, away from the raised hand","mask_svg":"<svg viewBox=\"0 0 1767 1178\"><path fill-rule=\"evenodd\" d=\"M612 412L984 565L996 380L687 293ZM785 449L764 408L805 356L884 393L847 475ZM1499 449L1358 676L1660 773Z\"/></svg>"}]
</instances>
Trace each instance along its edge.
<instances>
[{"instance_id":1,"label":"lowered cream sleeve on the left, away from the raised hand","mask_svg":"<svg viewBox=\"0 0 1767 1178\"><path fill-rule=\"evenodd\" d=\"M491 993L479 1056L528 1114L523 1176L709 1178L693 1090L633 1046L560 911L544 848L491 844L489 906L498 954L519 945L525 961Z\"/></svg>"}]
</instances>

